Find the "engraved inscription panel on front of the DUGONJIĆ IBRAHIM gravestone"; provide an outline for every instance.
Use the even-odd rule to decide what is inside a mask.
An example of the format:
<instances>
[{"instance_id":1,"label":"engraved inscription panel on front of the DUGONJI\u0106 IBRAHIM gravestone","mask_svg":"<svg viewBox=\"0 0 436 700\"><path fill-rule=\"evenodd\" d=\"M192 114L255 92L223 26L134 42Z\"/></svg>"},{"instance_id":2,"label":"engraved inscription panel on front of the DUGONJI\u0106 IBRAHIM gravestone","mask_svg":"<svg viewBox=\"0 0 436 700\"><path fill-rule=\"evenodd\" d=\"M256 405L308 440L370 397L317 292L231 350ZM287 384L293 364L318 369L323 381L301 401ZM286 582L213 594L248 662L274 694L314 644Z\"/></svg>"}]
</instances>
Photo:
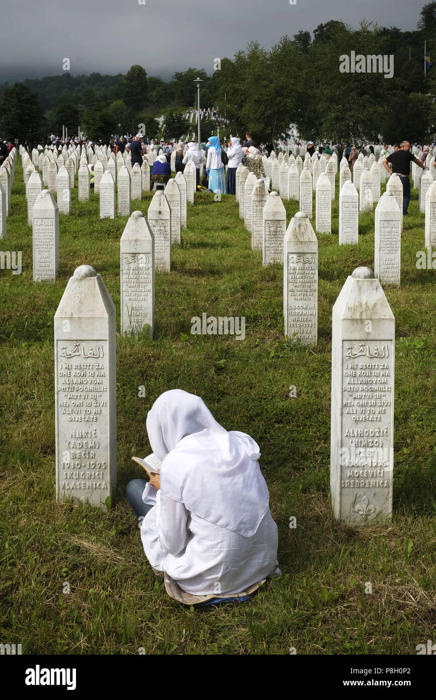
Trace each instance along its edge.
<instances>
[{"instance_id":1,"label":"engraved inscription panel on front of the DUGONJI\u0106 IBRAHIM gravestone","mask_svg":"<svg viewBox=\"0 0 436 700\"><path fill-rule=\"evenodd\" d=\"M318 253L288 253L288 335L316 342Z\"/></svg>"}]
</instances>

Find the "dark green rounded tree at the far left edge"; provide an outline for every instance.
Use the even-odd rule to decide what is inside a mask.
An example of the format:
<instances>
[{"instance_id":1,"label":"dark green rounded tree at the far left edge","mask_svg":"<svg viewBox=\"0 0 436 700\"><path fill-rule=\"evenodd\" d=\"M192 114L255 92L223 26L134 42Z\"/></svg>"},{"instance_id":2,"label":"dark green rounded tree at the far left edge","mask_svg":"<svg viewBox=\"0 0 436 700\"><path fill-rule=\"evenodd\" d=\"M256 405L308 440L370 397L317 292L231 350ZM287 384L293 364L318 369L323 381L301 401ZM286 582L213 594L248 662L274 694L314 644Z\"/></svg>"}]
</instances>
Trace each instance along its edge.
<instances>
[{"instance_id":1,"label":"dark green rounded tree at the far left edge","mask_svg":"<svg viewBox=\"0 0 436 700\"><path fill-rule=\"evenodd\" d=\"M23 83L3 91L0 102L0 132L3 138L38 141L45 136L47 123L36 92Z\"/></svg>"}]
</instances>

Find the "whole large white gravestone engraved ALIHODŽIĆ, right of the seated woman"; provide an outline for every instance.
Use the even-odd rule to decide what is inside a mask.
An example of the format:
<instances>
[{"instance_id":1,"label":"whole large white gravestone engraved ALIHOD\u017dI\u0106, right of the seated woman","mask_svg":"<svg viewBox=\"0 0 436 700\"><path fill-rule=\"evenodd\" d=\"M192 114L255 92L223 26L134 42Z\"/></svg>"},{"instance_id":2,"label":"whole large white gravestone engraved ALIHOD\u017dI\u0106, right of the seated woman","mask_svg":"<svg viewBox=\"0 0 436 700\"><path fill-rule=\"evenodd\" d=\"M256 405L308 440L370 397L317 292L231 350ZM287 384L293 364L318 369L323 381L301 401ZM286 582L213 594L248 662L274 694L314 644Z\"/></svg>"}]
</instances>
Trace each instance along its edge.
<instances>
[{"instance_id":1,"label":"whole large white gravestone engraved ALIHOD\u017dI\u0106, right of the seated woman","mask_svg":"<svg viewBox=\"0 0 436 700\"><path fill-rule=\"evenodd\" d=\"M346 279L332 316L332 508L360 527L392 512L395 318L368 267Z\"/></svg>"}]
</instances>

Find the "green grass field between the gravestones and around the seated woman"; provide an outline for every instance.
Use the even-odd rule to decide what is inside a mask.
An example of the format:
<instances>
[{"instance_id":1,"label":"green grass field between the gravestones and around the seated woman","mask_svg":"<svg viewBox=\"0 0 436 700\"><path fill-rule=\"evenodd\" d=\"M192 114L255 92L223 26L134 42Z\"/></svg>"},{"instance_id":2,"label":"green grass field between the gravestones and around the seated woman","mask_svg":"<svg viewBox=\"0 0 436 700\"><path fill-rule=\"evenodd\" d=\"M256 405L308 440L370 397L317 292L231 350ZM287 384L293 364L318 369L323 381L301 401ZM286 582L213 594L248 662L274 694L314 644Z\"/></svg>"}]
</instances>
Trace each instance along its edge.
<instances>
[{"instance_id":1,"label":"green grass field between the gravestones and around the seated woman","mask_svg":"<svg viewBox=\"0 0 436 700\"><path fill-rule=\"evenodd\" d=\"M435 640L436 273L416 269L424 216L412 190L401 286L385 289L397 337L393 519L351 530L330 507L331 316L346 276L374 267L374 214L361 218L356 246L339 246L338 196L332 235L318 236L318 345L309 348L283 337L282 266L262 267L234 197L202 193L188 204L171 272L156 276L153 341L117 334L118 486L102 512L55 502L53 316L73 270L88 264L119 330L127 217L99 221L94 193L78 202L73 190L72 215L59 215L59 278L34 283L18 158L1 241L22 251L23 271L0 272L0 641L22 643L23 654L416 654ZM146 212L150 199L132 208ZM285 204L289 223L298 204ZM190 335L203 312L245 316L244 342ZM125 486L143 476L131 456L149 449L147 412L170 388L201 395L227 430L260 444L282 575L248 604L185 609L143 554Z\"/></svg>"}]
</instances>

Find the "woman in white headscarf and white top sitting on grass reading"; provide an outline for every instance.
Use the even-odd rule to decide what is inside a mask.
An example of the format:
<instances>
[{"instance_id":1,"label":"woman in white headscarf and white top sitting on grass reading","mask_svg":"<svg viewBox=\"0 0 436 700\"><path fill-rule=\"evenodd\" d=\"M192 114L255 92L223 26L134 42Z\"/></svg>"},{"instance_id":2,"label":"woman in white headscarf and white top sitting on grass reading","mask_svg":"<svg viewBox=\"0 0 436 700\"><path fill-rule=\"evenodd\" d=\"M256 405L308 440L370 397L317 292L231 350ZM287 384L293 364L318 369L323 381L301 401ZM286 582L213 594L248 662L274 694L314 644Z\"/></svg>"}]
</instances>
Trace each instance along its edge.
<instances>
[{"instance_id":1,"label":"woman in white headscarf and white top sitting on grass reading","mask_svg":"<svg viewBox=\"0 0 436 700\"><path fill-rule=\"evenodd\" d=\"M169 595L190 604L245 596L277 575L277 526L253 438L227 432L180 389L155 401L147 432L160 475L129 482L127 499L145 516L143 548Z\"/></svg>"}]
</instances>

